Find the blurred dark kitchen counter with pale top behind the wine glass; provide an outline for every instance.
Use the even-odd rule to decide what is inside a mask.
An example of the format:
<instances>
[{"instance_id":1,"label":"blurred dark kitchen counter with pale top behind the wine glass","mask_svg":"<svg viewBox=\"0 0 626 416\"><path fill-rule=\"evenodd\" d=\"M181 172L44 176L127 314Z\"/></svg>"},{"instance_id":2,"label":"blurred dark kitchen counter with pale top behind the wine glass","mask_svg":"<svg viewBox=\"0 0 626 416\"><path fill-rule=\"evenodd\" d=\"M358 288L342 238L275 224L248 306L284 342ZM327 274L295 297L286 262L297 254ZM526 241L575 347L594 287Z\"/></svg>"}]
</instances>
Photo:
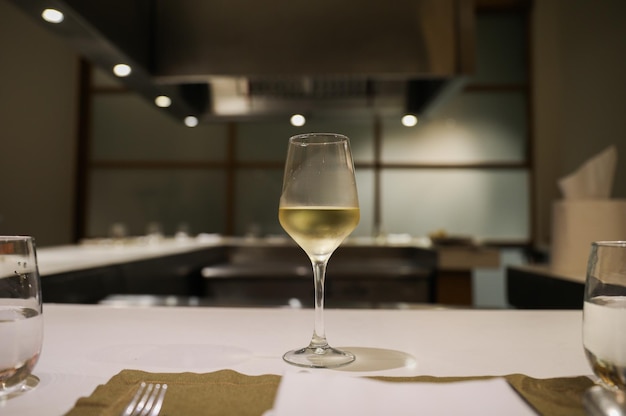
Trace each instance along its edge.
<instances>
[{"instance_id":1,"label":"blurred dark kitchen counter with pale top behind the wine glass","mask_svg":"<svg viewBox=\"0 0 626 416\"><path fill-rule=\"evenodd\" d=\"M40 248L38 260L47 302L151 294L245 303L266 292L277 304L290 297L312 304L311 280L303 279L309 260L282 237L88 240ZM494 248L350 238L331 257L327 300L471 305L472 269L498 266Z\"/></svg>"}]
</instances>

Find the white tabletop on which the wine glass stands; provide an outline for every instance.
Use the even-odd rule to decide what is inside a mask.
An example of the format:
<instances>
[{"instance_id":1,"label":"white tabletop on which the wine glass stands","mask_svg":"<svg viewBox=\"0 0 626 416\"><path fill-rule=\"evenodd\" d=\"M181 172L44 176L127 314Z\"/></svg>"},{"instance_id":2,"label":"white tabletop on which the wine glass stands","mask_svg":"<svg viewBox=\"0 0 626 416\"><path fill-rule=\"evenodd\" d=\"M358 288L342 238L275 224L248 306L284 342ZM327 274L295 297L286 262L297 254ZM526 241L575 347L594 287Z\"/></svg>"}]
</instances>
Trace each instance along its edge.
<instances>
[{"instance_id":1,"label":"white tabletop on which the wine glass stands","mask_svg":"<svg viewBox=\"0 0 626 416\"><path fill-rule=\"evenodd\" d=\"M128 371L171 377L227 371L280 380L302 370L282 355L308 344L314 322L312 309L294 307L45 303L43 316L43 348L33 372L39 382L0 402L2 416L83 414L77 403ZM324 317L329 343L356 360L314 373L367 379L517 374L539 380L591 374L580 310L407 305L327 309Z\"/></svg>"}]
</instances>

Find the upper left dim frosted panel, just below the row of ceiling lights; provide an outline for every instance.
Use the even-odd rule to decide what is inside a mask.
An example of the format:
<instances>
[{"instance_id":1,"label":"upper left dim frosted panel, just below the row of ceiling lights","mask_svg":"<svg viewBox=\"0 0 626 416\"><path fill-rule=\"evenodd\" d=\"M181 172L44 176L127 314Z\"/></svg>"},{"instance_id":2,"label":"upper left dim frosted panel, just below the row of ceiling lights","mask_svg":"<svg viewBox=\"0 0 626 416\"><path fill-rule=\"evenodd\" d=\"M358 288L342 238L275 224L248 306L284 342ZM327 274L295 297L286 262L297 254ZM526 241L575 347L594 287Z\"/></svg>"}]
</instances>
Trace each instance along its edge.
<instances>
[{"instance_id":1,"label":"upper left dim frosted panel, just below the row of ceiling lights","mask_svg":"<svg viewBox=\"0 0 626 416\"><path fill-rule=\"evenodd\" d=\"M225 124L189 128L135 94L94 95L93 126L94 160L221 161L226 154Z\"/></svg>"}]
</instances>

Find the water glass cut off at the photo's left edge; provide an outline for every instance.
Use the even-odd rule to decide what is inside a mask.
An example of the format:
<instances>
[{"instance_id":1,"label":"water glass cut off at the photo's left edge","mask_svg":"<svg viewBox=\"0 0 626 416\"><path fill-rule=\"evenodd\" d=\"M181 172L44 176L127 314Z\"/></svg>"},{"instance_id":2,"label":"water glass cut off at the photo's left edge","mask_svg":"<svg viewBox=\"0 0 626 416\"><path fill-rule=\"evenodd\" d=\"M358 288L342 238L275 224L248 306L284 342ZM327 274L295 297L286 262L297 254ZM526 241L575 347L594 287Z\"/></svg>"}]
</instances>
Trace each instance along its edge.
<instances>
[{"instance_id":1,"label":"water glass cut off at the photo's left edge","mask_svg":"<svg viewBox=\"0 0 626 416\"><path fill-rule=\"evenodd\" d=\"M0 407L33 389L43 341L41 286L32 237L0 236Z\"/></svg>"}]
</instances>

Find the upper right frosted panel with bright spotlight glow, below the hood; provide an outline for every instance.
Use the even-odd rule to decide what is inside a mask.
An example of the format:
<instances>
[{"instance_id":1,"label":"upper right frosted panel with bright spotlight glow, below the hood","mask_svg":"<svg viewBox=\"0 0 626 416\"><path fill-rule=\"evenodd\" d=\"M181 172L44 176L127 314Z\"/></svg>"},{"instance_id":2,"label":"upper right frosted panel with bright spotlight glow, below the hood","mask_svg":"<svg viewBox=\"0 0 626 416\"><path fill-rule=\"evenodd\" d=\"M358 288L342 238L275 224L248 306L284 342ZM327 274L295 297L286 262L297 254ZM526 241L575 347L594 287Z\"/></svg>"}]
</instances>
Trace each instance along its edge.
<instances>
[{"instance_id":1,"label":"upper right frosted panel with bright spotlight glow, below the hood","mask_svg":"<svg viewBox=\"0 0 626 416\"><path fill-rule=\"evenodd\" d=\"M385 118L382 160L423 164L523 162L527 137L523 93L465 92L415 127Z\"/></svg>"}]
</instances>

